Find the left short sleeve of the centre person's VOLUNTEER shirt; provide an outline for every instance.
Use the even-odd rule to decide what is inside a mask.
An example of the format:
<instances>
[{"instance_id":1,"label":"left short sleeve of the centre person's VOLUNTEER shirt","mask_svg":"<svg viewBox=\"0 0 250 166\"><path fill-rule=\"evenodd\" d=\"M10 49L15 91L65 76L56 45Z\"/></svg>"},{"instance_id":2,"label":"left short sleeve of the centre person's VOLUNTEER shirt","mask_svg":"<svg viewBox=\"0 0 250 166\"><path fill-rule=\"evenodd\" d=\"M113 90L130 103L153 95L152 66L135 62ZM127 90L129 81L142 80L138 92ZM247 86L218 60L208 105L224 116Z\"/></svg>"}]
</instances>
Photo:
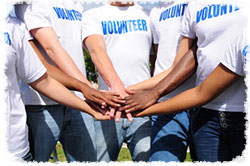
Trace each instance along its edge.
<instances>
[{"instance_id":1,"label":"left short sleeve of the centre person's VOLUNTEER shirt","mask_svg":"<svg viewBox=\"0 0 250 166\"><path fill-rule=\"evenodd\" d=\"M103 35L102 25L97 18L96 9L90 9L83 14L81 27L82 40L94 34Z\"/></svg>"}]
</instances>

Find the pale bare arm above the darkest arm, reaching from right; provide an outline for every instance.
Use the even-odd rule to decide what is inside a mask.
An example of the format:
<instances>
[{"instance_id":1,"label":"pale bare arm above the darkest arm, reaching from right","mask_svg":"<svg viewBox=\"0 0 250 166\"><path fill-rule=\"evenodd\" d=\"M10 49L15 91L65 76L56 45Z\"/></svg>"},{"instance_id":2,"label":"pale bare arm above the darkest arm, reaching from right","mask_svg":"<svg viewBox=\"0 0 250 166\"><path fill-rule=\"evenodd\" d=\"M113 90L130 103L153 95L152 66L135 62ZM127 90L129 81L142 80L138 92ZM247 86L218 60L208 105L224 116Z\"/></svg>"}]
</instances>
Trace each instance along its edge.
<instances>
[{"instance_id":1,"label":"pale bare arm above the darkest arm, reaching from right","mask_svg":"<svg viewBox=\"0 0 250 166\"><path fill-rule=\"evenodd\" d=\"M194 40L187 38L187 37L182 37L176 57L174 59L173 64L171 65L170 68L168 68L167 70L157 74L156 76L145 80L143 82L131 85L128 87L129 90L138 90L138 89L149 89L154 87L157 83L159 83L164 77L166 77L168 75L168 73L170 73L173 68L175 67L175 65L180 61L180 59L185 55L185 53L192 48L194 44ZM167 55L166 55L167 56Z\"/></svg>"}]
</instances>

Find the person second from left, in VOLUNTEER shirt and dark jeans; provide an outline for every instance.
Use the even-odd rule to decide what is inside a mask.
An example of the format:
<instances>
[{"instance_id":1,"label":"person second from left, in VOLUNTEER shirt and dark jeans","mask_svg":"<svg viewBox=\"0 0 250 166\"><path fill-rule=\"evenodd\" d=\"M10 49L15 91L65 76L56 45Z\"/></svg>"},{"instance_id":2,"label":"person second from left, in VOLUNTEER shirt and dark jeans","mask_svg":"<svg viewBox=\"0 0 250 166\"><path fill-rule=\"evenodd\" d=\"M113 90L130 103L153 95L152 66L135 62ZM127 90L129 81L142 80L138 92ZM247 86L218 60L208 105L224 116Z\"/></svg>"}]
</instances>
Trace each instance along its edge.
<instances>
[{"instance_id":1,"label":"person second from left, in VOLUNTEER shirt and dark jeans","mask_svg":"<svg viewBox=\"0 0 250 166\"><path fill-rule=\"evenodd\" d=\"M21 18L36 45L51 64L90 87L85 78L81 20L83 8L78 0L32 0L18 4ZM67 161L96 161L94 120L70 107L59 105L21 84L28 114L31 151L36 161L48 161L57 141L63 144ZM80 92L74 92L83 98Z\"/></svg>"}]
</instances>

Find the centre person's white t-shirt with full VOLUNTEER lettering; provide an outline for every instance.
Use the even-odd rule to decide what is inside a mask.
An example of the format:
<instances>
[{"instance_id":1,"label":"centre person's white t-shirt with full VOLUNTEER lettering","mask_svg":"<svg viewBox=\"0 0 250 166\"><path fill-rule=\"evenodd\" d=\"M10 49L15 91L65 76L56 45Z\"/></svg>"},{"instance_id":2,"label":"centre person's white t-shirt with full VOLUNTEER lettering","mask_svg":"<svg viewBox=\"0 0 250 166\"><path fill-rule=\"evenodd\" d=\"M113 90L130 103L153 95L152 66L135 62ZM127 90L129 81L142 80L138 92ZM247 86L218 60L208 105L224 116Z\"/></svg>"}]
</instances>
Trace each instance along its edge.
<instances>
[{"instance_id":1,"label":"centre person's white t-shirt with full VOLUNTEER lettering","mask_svg":"<svg viewBox=\"0 0 250 166\"><path fill-rule=\"evenodd\" d=\"M125 87L150 78L152 35L147 10L137 4L107 4L88 10L83 15L82 38L93 34L103 35L107 53ZM98 81L99 89L109 89L101 76Z\"/></svg>"}]
</instances>

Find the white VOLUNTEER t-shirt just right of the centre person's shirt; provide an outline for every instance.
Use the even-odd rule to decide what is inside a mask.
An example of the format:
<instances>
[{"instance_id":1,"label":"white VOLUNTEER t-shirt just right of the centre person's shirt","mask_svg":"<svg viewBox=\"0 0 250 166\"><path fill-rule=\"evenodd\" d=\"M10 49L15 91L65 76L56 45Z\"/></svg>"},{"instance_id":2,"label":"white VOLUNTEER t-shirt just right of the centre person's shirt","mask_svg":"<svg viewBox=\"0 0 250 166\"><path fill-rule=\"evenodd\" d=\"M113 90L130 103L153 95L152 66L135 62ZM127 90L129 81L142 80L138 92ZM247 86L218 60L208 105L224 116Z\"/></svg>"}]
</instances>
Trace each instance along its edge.
<instances>
[{"instance_id":1,"label":"white VOLUNTEER t-shirt just right of the centre person's shirt","mask_svg":"<svg viewBox=\"0 0 250 166\"><path fill-rule=\"evenodd\" d=\"M158 44L157 59L154 75L157 75L171 67L174 62L178 46L181 40L181 18L185 12L189 0L177 0L161 2L150 13L152 23L153 42ZM194 87L195 76L188 79L183 85L160 100L166 100L177 94Z\"/></svg>"}]
</instances>

